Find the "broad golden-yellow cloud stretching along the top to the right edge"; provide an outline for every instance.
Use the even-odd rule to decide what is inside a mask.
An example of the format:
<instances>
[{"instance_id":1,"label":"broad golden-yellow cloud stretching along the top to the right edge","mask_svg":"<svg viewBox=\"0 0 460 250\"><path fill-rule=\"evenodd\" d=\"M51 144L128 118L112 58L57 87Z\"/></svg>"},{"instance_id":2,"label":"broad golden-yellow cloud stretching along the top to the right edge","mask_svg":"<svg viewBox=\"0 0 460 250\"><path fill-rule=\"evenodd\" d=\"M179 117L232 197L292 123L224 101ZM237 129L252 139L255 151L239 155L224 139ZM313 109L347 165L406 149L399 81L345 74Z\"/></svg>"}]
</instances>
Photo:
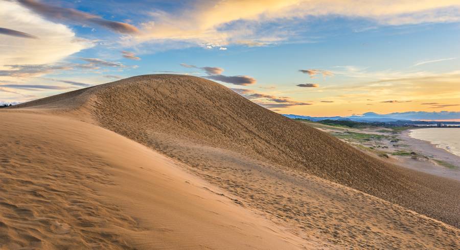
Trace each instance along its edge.
<instances>
[{"instance_id":1,"label":"broad golden-yellow cloud stretching along the top to the right edge","mask_svg":"<svg viewBox=\"0 0 460 250\"><path fill-rule=\"evenodd\" d=\"M137 42L184 41L263 46L296 37L298 20L311 17L366 19L372 27L460 20L457 0L227 0L192 1L172 12L152 11Z\"/></svg>"}]
</instances>

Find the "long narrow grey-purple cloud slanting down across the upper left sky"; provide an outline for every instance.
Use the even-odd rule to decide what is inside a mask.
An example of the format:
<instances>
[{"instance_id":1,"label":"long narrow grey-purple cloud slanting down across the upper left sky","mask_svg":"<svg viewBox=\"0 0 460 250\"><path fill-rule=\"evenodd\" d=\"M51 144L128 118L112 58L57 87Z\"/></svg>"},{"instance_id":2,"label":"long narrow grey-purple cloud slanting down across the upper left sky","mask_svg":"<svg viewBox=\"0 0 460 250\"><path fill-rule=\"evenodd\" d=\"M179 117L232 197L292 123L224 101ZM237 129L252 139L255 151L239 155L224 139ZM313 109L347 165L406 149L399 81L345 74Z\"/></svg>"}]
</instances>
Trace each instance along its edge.
<instances>
[{"instance_id":1,"label":"long narrow grey-purple cloud slanting down across the upper left sky","mask_svg":"<svg viewBox=\"0 0 460 250\"><path fill-rule=\"evenodd\" d=\"M100 16L96 16L74 9L66 9L51 6L34 0L18 0L17 2L45 18L73 21L78 23L93 23L105 27L109 30L123 34L133 34L139 32L139 30L137 30L137 28L132 26L131 24L117 21L109 21L103 19Z\"/></svg>"}]
</instances>

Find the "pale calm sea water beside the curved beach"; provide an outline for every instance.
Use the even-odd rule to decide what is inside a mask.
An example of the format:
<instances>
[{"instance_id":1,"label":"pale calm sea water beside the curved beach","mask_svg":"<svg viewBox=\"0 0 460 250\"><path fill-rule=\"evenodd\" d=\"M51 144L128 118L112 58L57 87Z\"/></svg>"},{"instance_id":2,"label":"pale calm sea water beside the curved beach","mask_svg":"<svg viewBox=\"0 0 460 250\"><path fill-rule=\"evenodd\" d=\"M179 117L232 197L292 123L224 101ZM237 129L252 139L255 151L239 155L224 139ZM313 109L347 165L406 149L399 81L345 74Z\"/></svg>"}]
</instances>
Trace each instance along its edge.
<instances>
[{"instance_id":1,"label":"pale calm sea water beside the curved beach","mask_svg":"<svg viewBox=\"0 0 460 250\"><path fill-rule=\"evenodd\" d=\"M444 148L460 156L460 128L427 128L411 130L409 136L431 142L436 147Z\"/></svg>"}]
</instances>

